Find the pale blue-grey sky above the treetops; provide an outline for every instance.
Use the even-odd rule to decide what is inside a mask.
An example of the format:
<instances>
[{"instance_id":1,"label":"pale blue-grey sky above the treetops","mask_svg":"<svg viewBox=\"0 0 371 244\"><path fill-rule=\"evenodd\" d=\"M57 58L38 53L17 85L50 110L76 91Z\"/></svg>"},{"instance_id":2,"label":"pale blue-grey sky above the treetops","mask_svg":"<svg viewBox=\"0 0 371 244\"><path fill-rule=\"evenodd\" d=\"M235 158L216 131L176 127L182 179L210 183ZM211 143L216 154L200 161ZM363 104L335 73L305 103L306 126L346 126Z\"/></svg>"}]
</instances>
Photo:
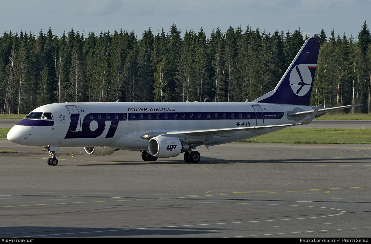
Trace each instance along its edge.
<instances>
[{"instance_id":1,"label":"pale blue-grey sky above the treetops","mask_svg":"<svg viewBox=\"0 0 371 244\"><path fill-rule=\"evenodd\" d=\"M58 37L73 28L84 33L134 31L141 39L150 27L154 35L175 23L181 30L200 31L207 36L217 27L229 26L271 33L278 29L292 33L300 27L313 36L324 29L326 36L340 34L357 40L364 21L371 23L370 0L0 0L0 35L4 32L40 30L49 26Z\"/></svg>"}]
</instances>

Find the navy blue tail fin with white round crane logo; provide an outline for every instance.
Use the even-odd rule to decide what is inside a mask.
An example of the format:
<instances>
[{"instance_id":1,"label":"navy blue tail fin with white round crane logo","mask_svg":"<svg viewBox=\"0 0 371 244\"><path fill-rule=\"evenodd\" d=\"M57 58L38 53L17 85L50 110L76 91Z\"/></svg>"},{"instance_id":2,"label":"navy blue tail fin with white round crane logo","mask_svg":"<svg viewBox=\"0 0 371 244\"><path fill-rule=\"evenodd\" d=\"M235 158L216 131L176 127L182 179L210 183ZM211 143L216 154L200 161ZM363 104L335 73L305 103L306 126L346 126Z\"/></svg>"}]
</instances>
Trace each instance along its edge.
<instances>
[{"instance_id":1,"label":"navy blue tail fin with white round crane logo","mask_svg":"<svg viewBox=\"0 0 371 244\"><path fill-rule=\"evenodd\" d=\"M253 102L309 105L320 45L321 38L307 39L275 90Z\"/></svg>"}]
</instances>

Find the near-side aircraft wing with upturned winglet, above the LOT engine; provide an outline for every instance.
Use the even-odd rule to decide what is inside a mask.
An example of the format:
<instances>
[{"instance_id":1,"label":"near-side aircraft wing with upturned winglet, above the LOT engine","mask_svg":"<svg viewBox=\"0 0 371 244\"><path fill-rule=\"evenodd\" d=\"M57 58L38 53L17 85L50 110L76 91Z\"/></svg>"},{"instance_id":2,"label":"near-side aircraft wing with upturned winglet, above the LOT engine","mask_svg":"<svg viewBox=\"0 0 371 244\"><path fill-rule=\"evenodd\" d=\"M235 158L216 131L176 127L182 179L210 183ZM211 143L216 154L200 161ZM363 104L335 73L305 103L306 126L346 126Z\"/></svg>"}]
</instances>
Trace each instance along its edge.
<instances>
[{"instance_id":1,"label":"near-side aircraft wing with upturned winglet, above the LOT engine","mask_svg":"<svg viewBox=\"0 0 371 244\"><path fill-rule=\"evenodd\" d=\"M210 135L210 134L223 134L231 133L235 131L254 131L255 133L268 133L270 132L270 128L279 128L279 127L290 127L290 126L300 126L302 124L309 124L312 122L314 117L316 116L319 108L322 104L318 105L315 110L312 111L311 116L308 117L303 123L298 124L279 124L279 125L271 125L271 126L249 126L249 127L237 127L237 128L220 128L220 129L207 129L207 130L185 130L185 131L168 131L166 134L184 134L189 136L201 136L201 135ZM224 136L228 136L227 134Z\"/></svg>"}]
</instances>

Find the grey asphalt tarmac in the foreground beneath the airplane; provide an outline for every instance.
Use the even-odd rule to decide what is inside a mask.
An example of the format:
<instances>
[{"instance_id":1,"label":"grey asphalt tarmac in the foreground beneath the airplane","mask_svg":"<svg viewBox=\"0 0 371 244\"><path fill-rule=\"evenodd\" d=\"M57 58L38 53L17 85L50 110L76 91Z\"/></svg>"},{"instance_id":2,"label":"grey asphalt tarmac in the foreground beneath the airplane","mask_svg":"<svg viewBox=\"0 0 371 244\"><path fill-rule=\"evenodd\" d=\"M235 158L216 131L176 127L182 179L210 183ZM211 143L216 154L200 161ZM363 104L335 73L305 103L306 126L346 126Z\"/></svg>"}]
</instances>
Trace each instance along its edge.
<instances>
[{"instance_id":1,"label":"grey asphalt tarmac in the foreground beneath the airplane","mask_svg":"<svg viewBox=\"0 0 371 244\"><path fill-rule=\"evenodd\" d=\"M370 237L371 145L230 143L143 162L0 140L0 237ZM74 156L72 157L72 151Z\"/></svg>"}]
</instances>

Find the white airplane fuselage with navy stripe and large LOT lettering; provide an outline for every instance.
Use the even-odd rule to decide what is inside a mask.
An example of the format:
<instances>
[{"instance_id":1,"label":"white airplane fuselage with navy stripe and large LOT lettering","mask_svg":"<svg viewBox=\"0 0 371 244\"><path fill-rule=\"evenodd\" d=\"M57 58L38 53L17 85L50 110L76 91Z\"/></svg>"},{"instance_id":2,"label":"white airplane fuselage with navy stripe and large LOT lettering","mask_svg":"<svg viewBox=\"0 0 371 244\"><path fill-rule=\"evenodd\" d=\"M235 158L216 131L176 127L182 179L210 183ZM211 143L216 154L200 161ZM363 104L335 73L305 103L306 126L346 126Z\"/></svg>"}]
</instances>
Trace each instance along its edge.
<instances>
[{"instance_id":1,"label":"white airplane fuselage with navy stripe and large LOT lettering","mask_svg":"<svg viewBox=\"0 0 371 244\"><path fill-rule=\"evenodd\" d=\"M268 126L305 121L308 116L295 121L293 117L287 116L288 111L295 110L308 111L313 108L247 102L56 103L33 110L51 113L52 118L23 119L9 131L7 138L28 146L106 146L145 150L149 140L142 138L144 134L158 136L169 131ZM236 131L221 136L177 137L196 146L213 146L266 133Z\"/></svg>"}]
</instances>

